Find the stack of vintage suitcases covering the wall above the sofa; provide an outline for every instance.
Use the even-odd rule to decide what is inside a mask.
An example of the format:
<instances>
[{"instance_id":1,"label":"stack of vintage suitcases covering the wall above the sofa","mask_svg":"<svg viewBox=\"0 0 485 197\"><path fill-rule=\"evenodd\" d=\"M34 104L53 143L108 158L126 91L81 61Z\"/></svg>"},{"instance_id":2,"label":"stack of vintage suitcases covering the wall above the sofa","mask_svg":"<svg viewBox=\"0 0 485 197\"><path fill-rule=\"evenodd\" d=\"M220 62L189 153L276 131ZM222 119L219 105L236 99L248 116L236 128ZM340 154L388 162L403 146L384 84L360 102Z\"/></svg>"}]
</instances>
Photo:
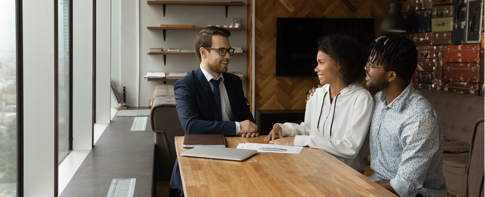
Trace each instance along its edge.
<instances>
[{"instance_id":1,"label":"stack of vintage suitcases covering the wall above the sofa","mask_svg":"<svg viewBox=\"0 0 485 197\"><path fill-rule=\"evenodd\" d=\"M484 93L484 0L405 0L407 36L418 50L417 89Z\"/></svg>"}]
</instances>

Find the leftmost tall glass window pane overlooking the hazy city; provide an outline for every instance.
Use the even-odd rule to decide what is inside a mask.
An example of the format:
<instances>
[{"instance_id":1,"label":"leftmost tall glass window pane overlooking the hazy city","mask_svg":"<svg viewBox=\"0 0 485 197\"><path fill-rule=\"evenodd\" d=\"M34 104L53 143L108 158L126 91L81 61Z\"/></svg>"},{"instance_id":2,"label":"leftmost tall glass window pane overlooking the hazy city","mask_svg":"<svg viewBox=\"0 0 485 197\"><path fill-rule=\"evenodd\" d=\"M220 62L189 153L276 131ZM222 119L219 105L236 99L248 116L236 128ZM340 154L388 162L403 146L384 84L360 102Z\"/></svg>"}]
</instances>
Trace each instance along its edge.
<instances>
[{"instance_id":1,"label":"leftmost tall glass window pane overlooking the hazy city","mask_svg":"<svg viewBox=\"0 0 485 197\"><path fill-rule=\"evenodd\" d=\"M17 196L15 0L0 1L0 196Z\"/></svg>"}]
</instances>

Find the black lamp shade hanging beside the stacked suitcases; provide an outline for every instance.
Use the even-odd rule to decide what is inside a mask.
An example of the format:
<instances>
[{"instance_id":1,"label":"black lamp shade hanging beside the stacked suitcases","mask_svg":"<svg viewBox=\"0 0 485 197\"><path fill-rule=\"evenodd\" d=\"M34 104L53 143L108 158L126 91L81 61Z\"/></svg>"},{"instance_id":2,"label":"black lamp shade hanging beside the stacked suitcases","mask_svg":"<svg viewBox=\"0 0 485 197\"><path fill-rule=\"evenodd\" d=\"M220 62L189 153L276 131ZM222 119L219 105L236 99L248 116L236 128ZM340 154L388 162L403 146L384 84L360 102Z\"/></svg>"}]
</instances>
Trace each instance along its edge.
<instances>
[{"instance_id":1,"label":"black lamp shade hanging beside the stacked suitcases","mask_svg":"<svg viewBox=\"0 0 485 197\"><path fill-rule=\"evenodd\" d=\"M401 15L401 3L389 3L388 15L382 19L381 31L384 32L406 32L406 23Z\"/></svg>"}]
</instances>

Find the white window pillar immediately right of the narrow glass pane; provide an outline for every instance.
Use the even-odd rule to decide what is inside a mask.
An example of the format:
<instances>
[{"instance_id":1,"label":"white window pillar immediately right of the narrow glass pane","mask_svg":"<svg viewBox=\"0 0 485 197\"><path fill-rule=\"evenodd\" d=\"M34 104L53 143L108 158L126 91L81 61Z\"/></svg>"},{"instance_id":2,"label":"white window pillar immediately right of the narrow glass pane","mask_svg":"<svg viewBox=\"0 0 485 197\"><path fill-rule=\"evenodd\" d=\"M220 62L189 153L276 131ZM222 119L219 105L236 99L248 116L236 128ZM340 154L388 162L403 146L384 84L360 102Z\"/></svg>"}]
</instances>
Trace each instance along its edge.
<instances>
[{"instance_id":1,"label":"white window pillar immediately right of the narrow glass pane","mask_svg":"<svg viewBox=\"0 0 485 197\"><path fill-rule=\"evenodd\" d=\"M72 2L72 149L93 145L93 1Z\"/></svg>"}]
</instances>

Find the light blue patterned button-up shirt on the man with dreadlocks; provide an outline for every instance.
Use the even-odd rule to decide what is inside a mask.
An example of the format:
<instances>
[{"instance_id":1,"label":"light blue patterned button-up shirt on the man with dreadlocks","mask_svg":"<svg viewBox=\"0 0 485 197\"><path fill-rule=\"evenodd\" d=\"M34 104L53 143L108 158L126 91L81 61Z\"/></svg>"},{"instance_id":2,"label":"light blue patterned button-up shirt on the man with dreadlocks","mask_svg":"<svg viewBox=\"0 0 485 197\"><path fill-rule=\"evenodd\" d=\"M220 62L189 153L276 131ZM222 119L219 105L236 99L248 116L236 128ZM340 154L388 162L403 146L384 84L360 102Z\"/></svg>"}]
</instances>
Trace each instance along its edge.
<instances>
[{"instance_id":1,"label":"light blue patterned button-up shirt on the man with dreadlocks","mask_svg":"<svg viewBox=\"0 0 485 197\"><path fill-rule=\"evenodd\" d=\"M431 103L409 84L390 104L379 92L370 127L373 181L390 180L401 197L443 197L443 131Z\"/></svg>"}]
</instances>

